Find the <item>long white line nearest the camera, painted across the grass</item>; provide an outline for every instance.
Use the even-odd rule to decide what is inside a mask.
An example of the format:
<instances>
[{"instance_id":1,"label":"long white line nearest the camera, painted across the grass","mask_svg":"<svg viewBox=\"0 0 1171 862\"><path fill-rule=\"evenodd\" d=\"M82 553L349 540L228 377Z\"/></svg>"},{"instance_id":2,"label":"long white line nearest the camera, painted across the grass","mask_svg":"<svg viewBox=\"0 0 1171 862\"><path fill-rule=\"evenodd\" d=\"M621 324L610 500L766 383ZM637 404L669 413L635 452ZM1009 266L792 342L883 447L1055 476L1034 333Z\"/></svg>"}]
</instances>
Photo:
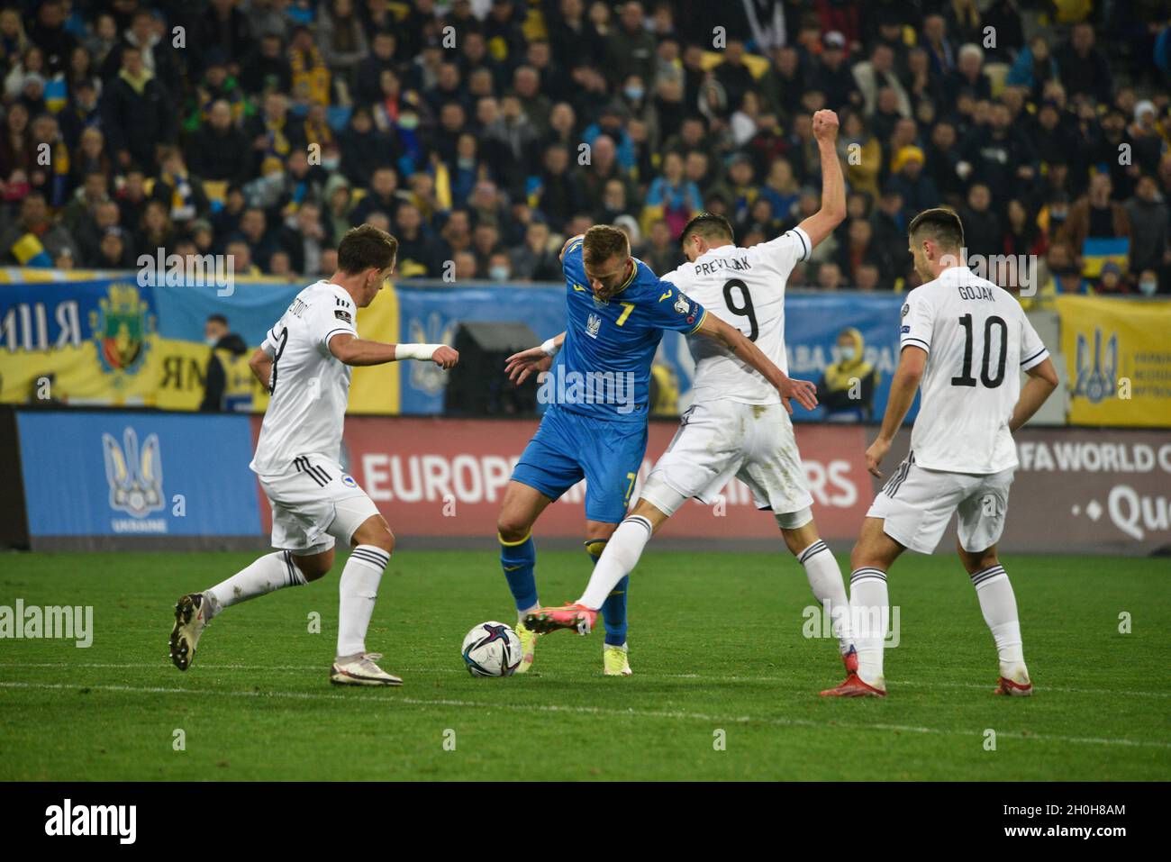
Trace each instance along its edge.
<instances>
[{"instance_id":1,"label":"long white line nearest the camera, painted across the grass","mask_svg":"<svg viewBox=\"0 0 1171 862\"><path fill-rule=\"evenodd\" d=\"M290 698L295 700L348 700L349 703L355 703L354 698L349 698L345 695L327 695L324 692L311 692L311 691L217 691L212 689L174 689L166 686L135 686L135 685L81 685L81 684L63 684L63 683L13 683L13 682L0 682L0 687L2 689L46 689L46 690L80 690L89 689L91 691L112 691L112 692L129 692L129 693L142 693L142 695L206 695L214 697L275 697L275 698ZM410 704L412 706L468 706L475 710L509 710L509 711L533 711L539 712L575 712L590 716L614 716L616 718L673 718L694 721L710 721L713 724L767 724L779 727L817 727L826 730L828 727L837 727L854 731L895 731L902 733L934 733L940 736L950 737L966 737L977 738L980 736L979 731L959 731L949 730L945 727L917 727L913 725L898 725L898 724L850 724L847 721L836 721L828 719L824 721L814 721L809 719L800 718L779 718L779 717L765 717L765 716L712 716L704 712L683 712L683 711L670 711L670 710L614 710L605 709L601 706L562 706L557 704L493 704L484 703L481 700L454 700L448 698L412 698L410 696L392 696L393 700L379 698L377 700L372 698L363 699L358 703L376 703L382 705L393 705L395 703ZM998 736L1006 739L1021 739L1026 741L1047 741L1047 743L1074 743L1078 745L1124 745L1134 747L1151 747L1151 748L1171 748L1171 743L1158 743L1152 740L1143 739L1102 739L1095 737L1062 737L1062 736L1050 736L1045 733L1014 733L1012 731L1001 731Z\"/></svg>"}]
</instances>

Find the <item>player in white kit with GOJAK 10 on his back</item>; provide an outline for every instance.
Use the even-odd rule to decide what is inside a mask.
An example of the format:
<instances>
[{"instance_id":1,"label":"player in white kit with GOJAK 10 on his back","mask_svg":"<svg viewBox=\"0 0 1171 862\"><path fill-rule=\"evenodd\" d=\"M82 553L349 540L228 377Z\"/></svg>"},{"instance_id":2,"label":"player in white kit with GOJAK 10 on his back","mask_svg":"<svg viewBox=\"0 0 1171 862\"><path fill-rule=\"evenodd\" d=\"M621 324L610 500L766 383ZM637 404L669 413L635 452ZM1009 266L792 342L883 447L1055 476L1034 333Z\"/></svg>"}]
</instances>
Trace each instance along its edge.
<instances>
[{"instance_id":1,"label":"player in white kit with GOJAK 10 on his back","mask_svg":"<svg viewBox=\"0 0 1171 862\"><path fill-rule=\"evenodd\" d=\"M922 388L911 451L875 497L850 556L858 670L830 693L884 697L886 572L906 548L930 554L958 513L967 569L1000 657L998 695L1030 695L1016 597L997 556L1016 468L1013 431L1057 385L1057 372L1020 302L964 264L964 228L950 210L926 210L909 228L925 283L903 306L898 369L867 467L878 465ZM1028 374L1023 389L1020 371Z\"/></svg>"}]
</instances>

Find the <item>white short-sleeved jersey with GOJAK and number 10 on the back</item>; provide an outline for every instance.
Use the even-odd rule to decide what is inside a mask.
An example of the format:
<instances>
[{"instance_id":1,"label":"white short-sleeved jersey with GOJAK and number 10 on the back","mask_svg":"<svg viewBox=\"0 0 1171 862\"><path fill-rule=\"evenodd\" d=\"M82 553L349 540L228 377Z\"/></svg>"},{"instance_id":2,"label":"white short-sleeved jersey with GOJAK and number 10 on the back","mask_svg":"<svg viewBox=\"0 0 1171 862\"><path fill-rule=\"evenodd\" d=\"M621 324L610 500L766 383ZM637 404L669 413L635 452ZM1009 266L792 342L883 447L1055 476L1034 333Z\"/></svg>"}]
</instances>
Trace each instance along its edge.
<instances>
[{"instance_id":1,"label":"white short-sleeved jersey with GOJAK and number 10 on the back","mask_svg":"<svg viewBox=\"0 0 1171 862\"><path fill-rule=\"evenodd\" d=\"M915 463L926 470L997 473L1016 466L1008 420L1020 372L1049 355L1020 302L966 266L906 295L899 349L927 351Z\"/></svg>"}]
</instances>

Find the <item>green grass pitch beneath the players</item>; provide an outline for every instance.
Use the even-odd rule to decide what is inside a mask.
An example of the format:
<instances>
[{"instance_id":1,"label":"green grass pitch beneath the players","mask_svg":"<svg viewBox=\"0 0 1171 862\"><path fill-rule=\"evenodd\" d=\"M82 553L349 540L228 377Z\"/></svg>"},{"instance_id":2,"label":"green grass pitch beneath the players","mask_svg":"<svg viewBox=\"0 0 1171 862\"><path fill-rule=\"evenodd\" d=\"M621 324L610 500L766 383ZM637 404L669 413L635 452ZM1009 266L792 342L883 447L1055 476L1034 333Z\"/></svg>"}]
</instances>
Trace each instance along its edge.
<instances>
[{"instance_id":1,"label":"green grass pitch beneath the players","mask_svg":"<svg viewBox=\"0 0 1171 862\"><path fill-rule=\"evenodd\" d=\"M840 682L836 644L802 636L813 598L788 554L653 546L632 577L630 678L602 676L597 632L542 638L527 676L470 677L466 631L514 621L495 554L409 548L383 577L368 638L402 689L327 680L341 560L323 581L226 610L180 673L166 649L174 600L253 557L0 557L0 604L91 604L95 629L88 649L0 641L0 779L1171 774L1165 560L1007 557L1036 685L1009 699L992 695L995 651L959 563L908 555L890 574L900 609L890 697L834 700L816 692ZM539 550L547 603L578 595L588 574L582 553Z\"/></svg>"}]
</instances>

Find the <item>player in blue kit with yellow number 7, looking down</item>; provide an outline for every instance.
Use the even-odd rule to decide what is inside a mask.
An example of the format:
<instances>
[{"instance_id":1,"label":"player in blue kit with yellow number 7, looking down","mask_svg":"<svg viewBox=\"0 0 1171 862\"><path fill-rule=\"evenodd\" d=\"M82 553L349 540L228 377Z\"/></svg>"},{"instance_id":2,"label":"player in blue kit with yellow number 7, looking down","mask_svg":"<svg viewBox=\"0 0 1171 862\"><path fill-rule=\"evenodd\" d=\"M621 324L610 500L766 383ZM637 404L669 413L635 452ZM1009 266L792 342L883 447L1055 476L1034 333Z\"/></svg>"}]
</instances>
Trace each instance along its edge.
<instances>
[{"instance_id":1,"label":"player in blue kit with yellow number 7, looking down","mask_svg":"<svg viewBox=\"0 0 1171 862\"><path fill-rule=\"evenodd\" d=\"M626 514L646 451L651 361L664 330L717 340L759 371L781 394L789 412L789 398L810 410L817 404L813 383L790 379L741 331L660 281L631 256L626 235L616 227L595 225L569 239L561 261L566 331L514 354L506 367L516 384L552 369L542 383L548 409L513 471L497 520L500 565L518 610L522 652L518 673L533 664L537 637L523 622L540 606L533 525L546 506L584 478L586 550L594 562L601 557ZM631 672L626 582L623 579L602 606L608 676Z\"/></svg>"}]
</instances>

